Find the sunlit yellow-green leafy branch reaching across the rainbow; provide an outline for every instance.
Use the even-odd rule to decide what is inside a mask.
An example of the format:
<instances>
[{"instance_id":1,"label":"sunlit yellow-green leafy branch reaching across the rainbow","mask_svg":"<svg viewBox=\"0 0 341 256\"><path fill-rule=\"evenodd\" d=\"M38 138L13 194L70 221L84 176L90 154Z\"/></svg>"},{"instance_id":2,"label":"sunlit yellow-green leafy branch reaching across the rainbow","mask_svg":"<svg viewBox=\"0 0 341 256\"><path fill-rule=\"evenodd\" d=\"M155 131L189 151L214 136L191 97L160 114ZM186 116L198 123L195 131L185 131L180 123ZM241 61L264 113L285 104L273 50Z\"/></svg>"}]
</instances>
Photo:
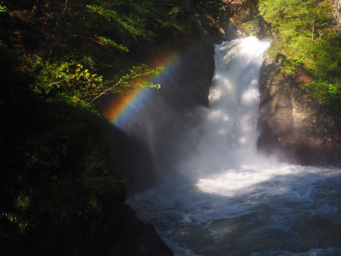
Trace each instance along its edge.
<instances>
[{"instance_id":1,"label":"sunlit yellow-green leafy branch reaching across the rainbow","mask_svg":"<svg viewBox=\"0 0 341 256\"><path fill-rule=\"evenodd\" d=\"M34 84L34 92L43 97L73 97L90 104L108 93L124 93L133 85L160 88L161 85L148 81L148 76L156 76L161 68L149 69L146 65L132 66L128 74L103 81L102 76L92 74L82 64L72 62L53 63L40 71Z\"/></svg>"}]
</instances>

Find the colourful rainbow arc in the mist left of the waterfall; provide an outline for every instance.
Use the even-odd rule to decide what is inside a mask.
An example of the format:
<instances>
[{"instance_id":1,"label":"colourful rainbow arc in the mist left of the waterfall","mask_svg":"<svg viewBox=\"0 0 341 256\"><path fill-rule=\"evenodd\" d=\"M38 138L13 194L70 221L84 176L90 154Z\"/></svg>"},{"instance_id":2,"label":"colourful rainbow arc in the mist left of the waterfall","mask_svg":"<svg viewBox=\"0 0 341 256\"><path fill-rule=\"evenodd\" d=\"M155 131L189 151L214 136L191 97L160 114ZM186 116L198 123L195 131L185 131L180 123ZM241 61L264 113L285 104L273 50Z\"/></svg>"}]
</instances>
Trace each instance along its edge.
<instances>
[{"instance_id":1,"label":"colourful rainbow arc in the mist left of the waterfall","mask_svg":"<svg viewBox=\"0 0 341 256\"><path fill-rule=\"evenodd\" d=\"M152 62L150 66L164 66L163 74L150 79L151 82L159 83L162 86L162 76L167 73L172 66L176 63L178 54L169 53L164 55L163 58L158 58ZM125 94L113 94L110 100L106 103L103 115L110 120L112 124L117 127L122 127L124 123L132 116L143 102L148 98L151 90L154 88L134 86L125 91Z\"/></svg>"}]
</instances>

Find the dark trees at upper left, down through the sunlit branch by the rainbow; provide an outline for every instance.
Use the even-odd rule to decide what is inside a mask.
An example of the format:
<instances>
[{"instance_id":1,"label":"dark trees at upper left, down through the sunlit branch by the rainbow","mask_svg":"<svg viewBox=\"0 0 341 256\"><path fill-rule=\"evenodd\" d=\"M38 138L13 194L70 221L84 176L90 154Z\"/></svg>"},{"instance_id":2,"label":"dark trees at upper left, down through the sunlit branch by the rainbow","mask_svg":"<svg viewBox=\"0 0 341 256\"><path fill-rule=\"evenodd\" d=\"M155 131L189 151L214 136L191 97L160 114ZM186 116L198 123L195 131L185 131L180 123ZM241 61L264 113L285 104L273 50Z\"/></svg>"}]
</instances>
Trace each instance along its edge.
<instances>
[{"instance_id":1,"label":"dark trees at upper left, down through the sunlit branch by the rainbow","mask_svg":"<svg viewBox=\"0 0 341 256\"><path fill-rule=\"evenodd\" d=\"M146 78L160 74L161 67L138 63L137 44L197 32L200 13L218 18L224 10L214 0L31 0L5 7L2 30L9 38L2 43L15 48L22 68L37 77L36 93L76 94L87 102L122 93L136 80L139 86L159 87ZM13 21L6 24L7 16L15 16L20 30Z\"/></svg>"}]
</instances>

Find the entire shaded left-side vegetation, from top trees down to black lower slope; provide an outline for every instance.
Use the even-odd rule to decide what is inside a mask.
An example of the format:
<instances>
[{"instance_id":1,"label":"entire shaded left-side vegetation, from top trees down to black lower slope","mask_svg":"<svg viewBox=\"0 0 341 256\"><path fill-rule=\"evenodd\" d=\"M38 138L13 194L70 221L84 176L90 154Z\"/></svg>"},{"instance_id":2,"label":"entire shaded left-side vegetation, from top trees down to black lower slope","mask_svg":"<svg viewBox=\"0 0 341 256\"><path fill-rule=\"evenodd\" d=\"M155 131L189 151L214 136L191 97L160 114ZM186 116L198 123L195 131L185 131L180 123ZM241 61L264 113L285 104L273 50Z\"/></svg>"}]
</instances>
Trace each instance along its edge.
<instances>
[{"instance_id":1,"label":"entire shaded left-side vegetation, from top trees down to black lower slope","mask_svg":"<svg viewBox=\"0 0 341 256\"><path fill-rule=\"evenodd\" d=\"M1 1L0 255L103 255L127 243L125 178L96 102L160 87L148 79L162 67L144 64L145 52L206 37L198 17L223 10L215 0Z\"/></svg>"}]
</instances>

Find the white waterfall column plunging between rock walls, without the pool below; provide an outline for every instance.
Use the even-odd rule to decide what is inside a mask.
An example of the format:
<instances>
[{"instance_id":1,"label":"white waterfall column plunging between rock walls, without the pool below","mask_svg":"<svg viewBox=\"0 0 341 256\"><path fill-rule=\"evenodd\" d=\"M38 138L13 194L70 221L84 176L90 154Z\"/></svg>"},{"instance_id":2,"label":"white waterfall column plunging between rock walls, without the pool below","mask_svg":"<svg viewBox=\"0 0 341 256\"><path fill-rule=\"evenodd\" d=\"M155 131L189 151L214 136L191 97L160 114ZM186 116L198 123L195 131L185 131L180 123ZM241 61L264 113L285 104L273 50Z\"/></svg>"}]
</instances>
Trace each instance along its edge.
<instances>
[{"instance_id":1,"label":"white waterfall column plunging between rock walls, without the pool below","mask_svg":"<svg viewBox=\"0 0 341 256\"><path fill-rule=\"evenodd\" d=\"M186 173L259 162L256 151L259 108L258 80L269 42L255 37L215 45L215 72L209 108L202 123L184 143L194 144L183 160ZM219 171L219 170L216 170Z\"/></svg>"}]
</instances>

